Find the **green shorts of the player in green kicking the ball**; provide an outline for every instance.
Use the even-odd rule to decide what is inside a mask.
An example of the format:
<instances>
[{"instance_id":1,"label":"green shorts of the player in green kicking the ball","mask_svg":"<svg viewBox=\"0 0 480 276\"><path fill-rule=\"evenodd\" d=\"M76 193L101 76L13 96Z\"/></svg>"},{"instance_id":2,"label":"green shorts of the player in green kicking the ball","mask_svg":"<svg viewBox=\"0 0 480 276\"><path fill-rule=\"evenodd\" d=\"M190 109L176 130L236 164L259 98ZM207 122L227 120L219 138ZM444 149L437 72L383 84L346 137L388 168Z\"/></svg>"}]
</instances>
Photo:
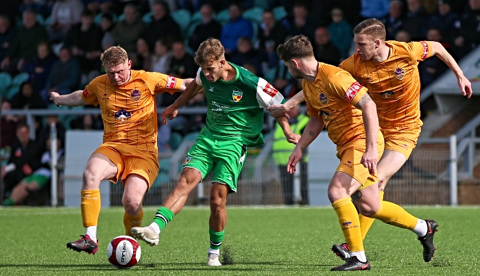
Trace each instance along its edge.
<instances>
[{"instance_id":1,"label":"green shorts of the player in green kicking the ball","mask_svg":"<svg viewBox=\"0 0 480 276\"><path fill-rule=\"evenodd\" d=\"M187 153L184 168L195 168L202 179L213 171L212 182L226 184L237 192L237 179L247 156L247 147L240 141L217 140L200 134Z\"/></svg>"}]
</instances>

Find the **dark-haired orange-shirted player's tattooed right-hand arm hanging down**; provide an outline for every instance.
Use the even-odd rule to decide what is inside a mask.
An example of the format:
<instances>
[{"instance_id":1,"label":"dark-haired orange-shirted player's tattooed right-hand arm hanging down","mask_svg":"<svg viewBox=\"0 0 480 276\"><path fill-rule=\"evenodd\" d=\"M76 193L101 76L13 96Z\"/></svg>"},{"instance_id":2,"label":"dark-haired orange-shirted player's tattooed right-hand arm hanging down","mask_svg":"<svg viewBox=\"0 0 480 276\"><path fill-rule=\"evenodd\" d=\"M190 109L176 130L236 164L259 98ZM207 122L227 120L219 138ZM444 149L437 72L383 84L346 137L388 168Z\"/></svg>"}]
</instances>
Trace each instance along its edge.
<instances>
[{"instance_id":1,"label":"dark-haired orange-shirted player's tattooed right-hand arm hanging down","mask_svg":"<svg viewBox=\"0 0 480 276\"><path fill-rule=\"evenodd\" d=\"M362 112L363 125L365 125L366 132L366 147L365 153L361 158L361 164L368 168L370 174L376 173L376 163L378 162L379 153L376 151L376 140L379 138L379 116L376 114L376 105L372 98L365 93L358 101L356 108Z\"/></svg>"}]
</instances>

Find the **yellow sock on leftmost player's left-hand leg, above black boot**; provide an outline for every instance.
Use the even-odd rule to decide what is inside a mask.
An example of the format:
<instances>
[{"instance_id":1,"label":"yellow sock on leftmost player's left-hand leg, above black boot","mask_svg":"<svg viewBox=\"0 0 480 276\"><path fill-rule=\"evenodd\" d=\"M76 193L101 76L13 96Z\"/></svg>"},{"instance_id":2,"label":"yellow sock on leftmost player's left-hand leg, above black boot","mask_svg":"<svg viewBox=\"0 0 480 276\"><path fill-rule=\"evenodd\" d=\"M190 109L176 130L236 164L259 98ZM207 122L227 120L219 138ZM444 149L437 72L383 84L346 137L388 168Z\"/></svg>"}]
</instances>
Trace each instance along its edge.
<instances>
[{"instance_id":1,"label":"yellow sock on leftmost player's left-hand leg, above black boot","mask_svg":"<svg viewBox=\"0 0 480 276\"><path fill-rule=\"evenodd\" d=\"M97 226L100 214L100 190L80 191L80 210L82 210L82 223L84 227Z\"/></svg>"}]
</instances>

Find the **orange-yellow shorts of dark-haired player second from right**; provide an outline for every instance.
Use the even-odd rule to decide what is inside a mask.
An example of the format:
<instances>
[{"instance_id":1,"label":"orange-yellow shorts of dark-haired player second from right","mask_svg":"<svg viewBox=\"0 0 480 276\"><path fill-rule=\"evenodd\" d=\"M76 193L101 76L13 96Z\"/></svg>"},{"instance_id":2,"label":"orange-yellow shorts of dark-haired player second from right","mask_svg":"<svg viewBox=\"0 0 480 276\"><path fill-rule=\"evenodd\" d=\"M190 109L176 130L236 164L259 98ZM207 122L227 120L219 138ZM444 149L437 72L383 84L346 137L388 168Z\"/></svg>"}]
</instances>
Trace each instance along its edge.
<instances>
[{"instance_id":1,"label":"orange-yellow shorts of dark-haired player second from right","mask_svg":"<svg viewBox=\"0 0 480 276\"><path fill-rule=\"evenodd\" d=\"M378 182L378 175L370 175L368 168L365 168L365 166L361 164L361 157L363 156L363 153L365 153L365 140L358 139L351 142L350 145L353 147L348 147L341 152L339 151L337 154L340 159L340 164L337 168L337 171L346 173L355 180L359 181L359 190ZM383 147L383 136L381 133L379 133L379 138L376 142L376 151L379 153L379 160L383 155Z\"/></svg>"}]
</instances>

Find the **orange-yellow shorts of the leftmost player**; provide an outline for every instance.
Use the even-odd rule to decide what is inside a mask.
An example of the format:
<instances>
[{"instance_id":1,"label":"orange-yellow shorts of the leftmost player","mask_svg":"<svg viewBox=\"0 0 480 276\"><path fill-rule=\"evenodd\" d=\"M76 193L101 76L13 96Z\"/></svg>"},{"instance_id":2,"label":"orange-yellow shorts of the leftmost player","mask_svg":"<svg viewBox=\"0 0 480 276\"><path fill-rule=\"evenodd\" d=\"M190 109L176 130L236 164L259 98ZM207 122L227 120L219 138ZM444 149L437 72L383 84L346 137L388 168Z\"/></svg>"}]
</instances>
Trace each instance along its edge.
<instances>
[{"instance_id":1,"label":"orange-yellow shorts of the leftmost player","mask_svg":"<svg viewBox=\"0 0 480 276\"><path fill-rule=\"evenodd\" d=\"M158 174L158 153L156 152L142 151L138 147L118 142L105 142L93 153L105 155L117 166L117 175L108 179L113 183L121 179L125 185L125 179L134 173L145 178L150 188Z\"/></svg>"}]
</instances>

